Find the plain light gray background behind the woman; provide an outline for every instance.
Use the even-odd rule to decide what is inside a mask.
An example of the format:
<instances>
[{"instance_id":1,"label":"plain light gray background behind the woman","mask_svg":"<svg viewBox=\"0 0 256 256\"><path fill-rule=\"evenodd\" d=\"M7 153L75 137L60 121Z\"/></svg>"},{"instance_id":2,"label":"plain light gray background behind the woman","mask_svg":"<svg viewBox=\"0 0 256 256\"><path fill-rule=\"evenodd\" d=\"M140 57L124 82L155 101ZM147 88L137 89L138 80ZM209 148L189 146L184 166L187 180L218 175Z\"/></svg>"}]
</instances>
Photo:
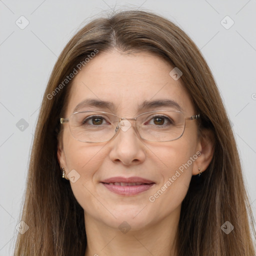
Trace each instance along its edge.
<instances>
[{"instance_id":1,"label":"plain light gray background behind the woman","mask_svg":"<svg viewBox=\"0 0 256 256\"><path fill-rule=\"evenodd\" d=\"M13 251L38 108L57 56L99 12L139 6L174 21L200 48L233 123L256 215L256 0L0 0L0 255ZM24 29L15 24L21 15ZM220 23L226 15L229 29Z\"/></svg>"}]
</instances>

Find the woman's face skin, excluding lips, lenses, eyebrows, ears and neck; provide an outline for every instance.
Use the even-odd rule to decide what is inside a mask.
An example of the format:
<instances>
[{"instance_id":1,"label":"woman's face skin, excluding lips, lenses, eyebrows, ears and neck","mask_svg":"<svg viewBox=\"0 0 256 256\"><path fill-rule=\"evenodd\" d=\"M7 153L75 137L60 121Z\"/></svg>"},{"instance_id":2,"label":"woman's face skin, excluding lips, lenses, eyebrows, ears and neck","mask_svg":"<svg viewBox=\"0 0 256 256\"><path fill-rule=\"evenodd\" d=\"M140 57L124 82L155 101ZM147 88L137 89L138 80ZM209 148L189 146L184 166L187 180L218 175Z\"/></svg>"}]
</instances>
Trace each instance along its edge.
<instances>
[{"instance_id":1,"label":"woman's face skin, excluding lips, lenses, eyebrows, ears and neck","mask_svg":"<svg viewBox=\"0 0 256 256\"><path fill-rule=\"evenodd\" d=\"M171 99L185 116L197 114L181 79L169 75L172 69L150 53L99 52L73 78L62 117L68 118L80 102L89 98L110 101L112 108L95 105L76 111L99 110L134 117L170 108L159 106L138 111L145 100ZM68 123L64 123L58 159L66 174L72 170L71 188L85 217L113 228L126 221L136 230L166 217L179 216L191 175L198 174L201 147L196 120L186 121L183 135L168 142L142 140L135 133L134 121L130 123L132 126L127 130L120 129L110 141L100 143L76 140ZM139 193L119 194L101 182L112 177L140 177L153 184Z\"/></svg>"}]
</instances>

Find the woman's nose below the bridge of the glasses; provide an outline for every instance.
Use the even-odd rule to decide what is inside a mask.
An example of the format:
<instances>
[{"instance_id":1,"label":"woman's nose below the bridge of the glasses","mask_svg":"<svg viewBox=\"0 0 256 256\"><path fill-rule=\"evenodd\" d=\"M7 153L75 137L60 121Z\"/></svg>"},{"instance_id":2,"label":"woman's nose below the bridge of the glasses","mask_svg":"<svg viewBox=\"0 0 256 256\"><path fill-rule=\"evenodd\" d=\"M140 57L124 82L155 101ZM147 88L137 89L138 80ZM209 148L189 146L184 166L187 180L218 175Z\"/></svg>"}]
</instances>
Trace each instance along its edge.
<instances>
[{"instance_id":1,"label":"woman's nose below the bridge of the glasses","mask_svg":"<svg viewBox=\"0 0 256 256\"><path fill-rule=\"evenodd\" d=\"M109 157L113 162L124 165L136 165L145 160L143 142L132 125L133 121L122 120L116 136L109 141Z\"/></svg>"}]
</instances>

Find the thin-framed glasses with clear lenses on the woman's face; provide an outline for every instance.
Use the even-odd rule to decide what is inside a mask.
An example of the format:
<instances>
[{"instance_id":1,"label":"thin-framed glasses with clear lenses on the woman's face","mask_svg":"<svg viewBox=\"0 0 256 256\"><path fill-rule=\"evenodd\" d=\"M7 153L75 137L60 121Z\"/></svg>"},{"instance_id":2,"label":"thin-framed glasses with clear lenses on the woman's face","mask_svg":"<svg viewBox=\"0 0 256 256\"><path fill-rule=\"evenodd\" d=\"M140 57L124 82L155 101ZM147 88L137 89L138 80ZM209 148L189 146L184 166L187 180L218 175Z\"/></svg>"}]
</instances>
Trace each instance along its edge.
<instances>
[{"instance_id":1,"label":"thin-framed glasses with clear lenses on the woman's face","mask_svg":"<svg viewBox=\"0 0 256 256\"><path fill-rule=\"evenodd\" d=\"M103 111L83 111L72 113L69 118L60 118L60 123L68 122L72 136L82 142L105 142L113 138L121 129L127 131L135 120L135 131L140 138L148 141L172 141L182 136L186 120L199 118L199 114L189 117L176 110L156 110L139 114L133 118L119 117Z\"/></svg>"}]
</instances>

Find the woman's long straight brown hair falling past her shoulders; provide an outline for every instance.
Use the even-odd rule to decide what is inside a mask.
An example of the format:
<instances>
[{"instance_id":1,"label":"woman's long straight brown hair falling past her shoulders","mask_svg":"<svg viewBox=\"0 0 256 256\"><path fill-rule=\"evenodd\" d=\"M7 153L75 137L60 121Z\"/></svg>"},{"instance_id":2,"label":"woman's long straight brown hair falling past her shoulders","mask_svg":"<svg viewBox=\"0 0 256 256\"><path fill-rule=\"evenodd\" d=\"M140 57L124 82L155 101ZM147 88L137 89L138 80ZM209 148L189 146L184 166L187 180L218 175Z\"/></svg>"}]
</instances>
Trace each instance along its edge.
<instances>
[{"instance_id":1,"label":"woman's long straight brown hair falling past her shoulders","mask_svg":"<svg viewBox=\"0 0 256 256\"><path fill-rule=\"evenodd\" d=\"M84 256L83 209L69 181L61 178L57 160L59 117L65 111L72 84L63 81L91 52L100 54L113 48L147 51L178 67L200 113L199 131L210 129L214 136L213 158L199 182L192 176L182 201L178 255L255 255L255 230L253 224L249 225L253 218L237 147L211 71L197 46L179 27L164 17L139 10L92 20L70 39L58 57L42 100L31 152L21 217L29 229L18 235L15 255ZM61 83L63 86L59 86ZM234 226L229 234L220 228L225 221Z\"/></svg>"}]
</instances>

